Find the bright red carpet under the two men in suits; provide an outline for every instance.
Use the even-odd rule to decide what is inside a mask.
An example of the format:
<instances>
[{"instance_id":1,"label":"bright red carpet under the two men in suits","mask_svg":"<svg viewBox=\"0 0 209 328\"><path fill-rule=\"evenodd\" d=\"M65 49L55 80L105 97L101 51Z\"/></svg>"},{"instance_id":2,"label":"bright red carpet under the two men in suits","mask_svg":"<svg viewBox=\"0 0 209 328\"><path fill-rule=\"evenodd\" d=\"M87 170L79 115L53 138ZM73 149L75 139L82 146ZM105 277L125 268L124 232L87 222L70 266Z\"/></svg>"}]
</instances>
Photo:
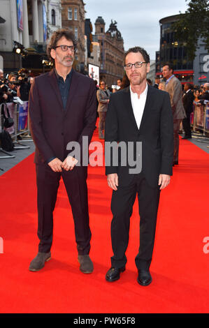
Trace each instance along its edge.
<instances>
[{"instance_id":1,"label":"bright red carpet under the two men in suits","mask_svg":"<svg viewBox=\"0 0 209 328\"><path fill-rule=\"evenodd\" d=\"M97 132L94 133L97 139ZM138 206L131 218L127 270L120 281L107 283L112 255L110 195L103 167L89 167L91 258L94 273L79 270L73 218L61 181L55 208L52 260L39 272L29 263L37 252L34 156L1 176L0 254L1 313L208 313L209 157L180 140L180 164L170 186L161 192L152 284L136 282ZM209 250L209 246L207 248Z\"/></svg>"}]
</instances>

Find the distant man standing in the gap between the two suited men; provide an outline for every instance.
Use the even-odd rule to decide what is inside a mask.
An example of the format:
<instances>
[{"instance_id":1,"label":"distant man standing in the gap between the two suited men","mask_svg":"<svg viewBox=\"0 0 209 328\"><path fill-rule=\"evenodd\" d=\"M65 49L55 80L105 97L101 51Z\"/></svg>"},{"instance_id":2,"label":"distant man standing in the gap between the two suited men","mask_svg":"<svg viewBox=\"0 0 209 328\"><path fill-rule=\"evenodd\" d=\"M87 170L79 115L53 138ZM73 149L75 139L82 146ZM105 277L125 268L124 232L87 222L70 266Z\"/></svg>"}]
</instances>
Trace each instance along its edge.
<instances>
[{"instance_id":1,"label":"distant man standing in the gap between the two suited men","mask_svg":"<svg viewBox=\"0 0 209 328\"><path fill-rule=\"evenodd\" d=\"M110 91L106 89L106 82L101 80L99 83L100 89L96 91L96 97L99 102L99 139L104 139L106 112L108 110L108 103L110 100Z\"/></svg>"}]
</instances>

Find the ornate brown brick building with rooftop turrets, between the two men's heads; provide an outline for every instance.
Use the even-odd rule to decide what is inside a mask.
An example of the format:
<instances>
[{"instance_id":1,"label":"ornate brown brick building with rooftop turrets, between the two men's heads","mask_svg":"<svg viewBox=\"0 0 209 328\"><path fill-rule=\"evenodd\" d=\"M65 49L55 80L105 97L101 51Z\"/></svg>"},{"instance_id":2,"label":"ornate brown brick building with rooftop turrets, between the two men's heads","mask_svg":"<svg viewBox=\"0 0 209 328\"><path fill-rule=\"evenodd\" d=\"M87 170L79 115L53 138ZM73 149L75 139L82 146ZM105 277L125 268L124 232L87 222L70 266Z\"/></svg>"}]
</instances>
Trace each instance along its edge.
<instances>
[{"instance_id":1,"label":"ornate brown brick building with rooftop turrets, between the two men's heads","mask_svg":"<svg viewBox=\"0 0 209 328\"><path fill-rule=\"evenodd\" d=\"M100 80L105 80L108 87L117 84L117 79L124 76L124 41L117 22L111 22L109 29L99 16L95 22L95 36L100 47Z\"/></svg>"}]
</instances>

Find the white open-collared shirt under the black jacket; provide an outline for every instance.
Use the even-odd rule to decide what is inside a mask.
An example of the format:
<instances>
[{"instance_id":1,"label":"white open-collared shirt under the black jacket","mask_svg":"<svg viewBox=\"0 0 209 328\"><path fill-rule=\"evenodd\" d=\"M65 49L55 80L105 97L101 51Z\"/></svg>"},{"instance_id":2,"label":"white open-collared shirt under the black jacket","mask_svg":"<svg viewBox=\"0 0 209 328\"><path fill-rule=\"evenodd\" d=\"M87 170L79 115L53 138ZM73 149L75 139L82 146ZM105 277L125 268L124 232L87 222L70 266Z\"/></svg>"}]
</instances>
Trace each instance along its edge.
<instances>
[{"instance_id":1,"label":"white open-collared shirt under the black jacket","mask_svg":"<svg viewBox=\"0 0 209 328\"><path fill-rule=\"evenodd\" d=\"M134 111L134 117L136 119L136 124L138 128L140 127L140 122L143 117L143 112L145 109L145 102L147 99L147 90L148 86L146 84L145 91L143 91L142 94L140 94L140 98L138 98L138 94L135 94L131 90L131 85L130 85L130 93L131 93L131 105Z\"/></svg>"}]
</instances>

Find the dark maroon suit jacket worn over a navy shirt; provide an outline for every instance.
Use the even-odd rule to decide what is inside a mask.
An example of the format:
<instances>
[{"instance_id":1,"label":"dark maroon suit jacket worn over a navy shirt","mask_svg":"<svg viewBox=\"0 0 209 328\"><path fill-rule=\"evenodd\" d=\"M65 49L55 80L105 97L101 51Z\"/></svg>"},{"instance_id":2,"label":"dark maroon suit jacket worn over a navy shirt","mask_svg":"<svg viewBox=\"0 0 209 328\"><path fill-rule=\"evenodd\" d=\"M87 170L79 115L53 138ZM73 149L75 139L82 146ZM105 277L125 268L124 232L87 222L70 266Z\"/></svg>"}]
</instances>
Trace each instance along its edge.
<instances>
[{"instance_id":1,"label":"dark maroon suit jacket worn over a navy shirt","mask_svg":"<svg viewBox=\"0 0 209 328\"><path fill-rule=\"evenodd\" d=\"M64 161L71 141L88 141L96 122L96 90L92 79L73 70L66 109L57 84L55 71L35 77L29 95L31 135L36 144L35 163L57 157Z\"/></svg>"}]
</instances>

